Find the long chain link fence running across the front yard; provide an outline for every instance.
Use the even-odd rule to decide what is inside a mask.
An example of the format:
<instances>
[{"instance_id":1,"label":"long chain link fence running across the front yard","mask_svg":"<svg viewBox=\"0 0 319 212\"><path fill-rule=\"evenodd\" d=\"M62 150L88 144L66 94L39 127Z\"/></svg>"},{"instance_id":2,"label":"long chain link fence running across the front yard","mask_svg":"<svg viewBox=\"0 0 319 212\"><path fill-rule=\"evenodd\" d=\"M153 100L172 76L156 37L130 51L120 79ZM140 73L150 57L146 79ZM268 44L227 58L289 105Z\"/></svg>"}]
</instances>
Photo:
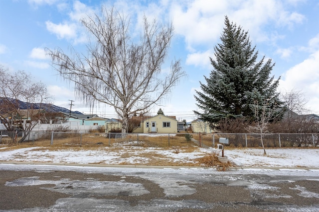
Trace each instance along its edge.
<instances>
[{"instance_id":1,"label":"long chain link fence running across the front yard","mask_svg":"<svg viewBox=\"0 0 319 212\"><path fill-rule=\"evenodd\" d=\"M0 143L19 139L23 132L0 132ZM231 133L177 133L177 134L121 134L121 133L78 133L35 131L30 132L23 142L47 144L103 144L103 145L143 145L143 146L200 146L216 147L220 138L228 139L225 146L260 147L260 134ZM265 147L319 147L319 134L264 134Z\"/></svg>"}]
</instances>

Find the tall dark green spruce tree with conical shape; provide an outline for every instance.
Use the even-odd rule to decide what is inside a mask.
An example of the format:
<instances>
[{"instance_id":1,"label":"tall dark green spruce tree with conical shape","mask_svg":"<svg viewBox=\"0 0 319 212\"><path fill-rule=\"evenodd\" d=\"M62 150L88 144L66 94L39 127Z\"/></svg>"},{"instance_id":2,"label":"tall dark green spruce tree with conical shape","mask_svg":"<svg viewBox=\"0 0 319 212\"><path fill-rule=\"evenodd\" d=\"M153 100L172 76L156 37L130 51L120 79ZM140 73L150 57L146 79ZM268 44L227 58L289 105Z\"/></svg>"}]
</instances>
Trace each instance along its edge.
<instances>
[{"instance_id":1,"label":"tall dark green spruce tree with conical shape","mask_svg":"<svg viewBox=\"0 0 319 212\"><path fill-rule=\"evenodd\" d=\"M200 82L195 99L199 111L194 113L211 125L224 118L254 117L254 101L267 101L269 107L280 106L276 92L279 79L270 77L274 67L265 56L256 61L258 51L251 47L248 32L225 17L221 44L214 47L215 59L210 58L213 70Z\"/></svg>"}]
</instances>

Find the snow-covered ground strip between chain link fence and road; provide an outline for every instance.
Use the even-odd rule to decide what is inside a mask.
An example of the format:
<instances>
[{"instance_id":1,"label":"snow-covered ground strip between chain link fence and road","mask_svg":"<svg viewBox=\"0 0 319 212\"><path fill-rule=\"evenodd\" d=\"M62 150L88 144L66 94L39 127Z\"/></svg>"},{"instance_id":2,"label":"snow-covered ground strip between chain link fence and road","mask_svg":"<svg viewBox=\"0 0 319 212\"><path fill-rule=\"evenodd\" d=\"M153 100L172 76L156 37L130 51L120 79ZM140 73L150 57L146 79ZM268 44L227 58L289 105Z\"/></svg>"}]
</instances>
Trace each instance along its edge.
<instances>
[{"instance_id":1,"label":"snow-covered ground strip between chain link fence and road","mask_svg":"<svg viewBox=\"0 0 319 212\"><path fill-rule=\"evenodd\" d=\"M12 162L46 162L77 164L134 164L145 165L152 159L169 161L170 163L194 163L194 159L207 153L219 151L215 148L195 148L192 152L183 148L163 149L156 147L122 146L115 150L111 147L99 147L83 150L61 149L48 150L45 147L28 147L9 149L0 147L1 161ZM224 155L237 166L252 167L319 167L319 148L276 148L266 149L240 148L225 149ZM219 152L220 153L220 152ZM151 155L151 156L150 156ZM150 165L150 164L148 164Z\"/></svg>"}]
</instances>

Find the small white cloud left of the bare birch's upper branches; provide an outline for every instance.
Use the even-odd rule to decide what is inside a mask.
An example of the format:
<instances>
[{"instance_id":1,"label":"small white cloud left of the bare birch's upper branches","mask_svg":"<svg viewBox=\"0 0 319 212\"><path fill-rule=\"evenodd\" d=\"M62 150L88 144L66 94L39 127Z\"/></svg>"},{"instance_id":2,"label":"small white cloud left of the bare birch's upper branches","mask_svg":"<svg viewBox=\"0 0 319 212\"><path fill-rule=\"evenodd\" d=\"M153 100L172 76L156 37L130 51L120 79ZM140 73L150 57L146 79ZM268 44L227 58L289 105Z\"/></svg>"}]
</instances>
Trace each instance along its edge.
<instances>
[{"instance_id":1,"label":"small white cloud left of the bare birch's upper branches","mask_svg":"<svg viewBox=\"0 0 319 212\"><path fill-rule=\"evenodd\" d=\"M76 38L77 26L74 23L55 24L51 21L46 21L45 24L46 29L53 34L56 34L59 39Z\"/></svg>"}]
</instances>

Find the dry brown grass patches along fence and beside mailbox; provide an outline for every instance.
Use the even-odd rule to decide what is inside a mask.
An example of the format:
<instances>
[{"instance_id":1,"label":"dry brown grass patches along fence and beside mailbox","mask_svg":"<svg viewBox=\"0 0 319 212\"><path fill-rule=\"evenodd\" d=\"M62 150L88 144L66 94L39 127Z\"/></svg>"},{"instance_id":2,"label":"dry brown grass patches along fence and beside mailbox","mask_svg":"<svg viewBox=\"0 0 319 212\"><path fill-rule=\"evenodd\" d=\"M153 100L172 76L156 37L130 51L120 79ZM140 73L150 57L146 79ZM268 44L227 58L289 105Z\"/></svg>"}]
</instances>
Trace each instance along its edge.
<instances>
[{"instance_id":1,"label":"dry brown grass patches along fence and beside mailbox","mask_svg":"<svg viewBox=\"0 0 319 212\"><path fill-rule=\"evenodd\" d=\"M137 142L139 140L139 142ZM129 135L127 138L122 139L109 139L101 136L101 134L74 134L73 137L66 137L54 139L51 145L50 140L37 140L18 143L17 145L3 145L6 148L1 148L0 151L6 151L17 148L26 148L37 146L39 148L33 149L34 151L45 150L94 150L106 148L106 151L121 152L121 158L139 157L141 161L137 162L121 162L119 165L149 165L149 166L206 166L216 167L218 170L226 170L230 164L222 164L216 160L214 155L207 154L202 158L194 159L191 162L176 162L173 158L162 155L160 153L152 153L149 151L143 152L143 148L149 147L160 148L161 150L170 150L173 153L187 153L193 152L198 147L193 142L187 142L184 137L150 137L141 136L137 138L136 135ZM129 150L128 146L139 146L142 150L139 153L134 152L134 149ZM124 153L123 153L124 152ZM100 161L105 163L105 161Z\"/></svg>"}]
</instances>

